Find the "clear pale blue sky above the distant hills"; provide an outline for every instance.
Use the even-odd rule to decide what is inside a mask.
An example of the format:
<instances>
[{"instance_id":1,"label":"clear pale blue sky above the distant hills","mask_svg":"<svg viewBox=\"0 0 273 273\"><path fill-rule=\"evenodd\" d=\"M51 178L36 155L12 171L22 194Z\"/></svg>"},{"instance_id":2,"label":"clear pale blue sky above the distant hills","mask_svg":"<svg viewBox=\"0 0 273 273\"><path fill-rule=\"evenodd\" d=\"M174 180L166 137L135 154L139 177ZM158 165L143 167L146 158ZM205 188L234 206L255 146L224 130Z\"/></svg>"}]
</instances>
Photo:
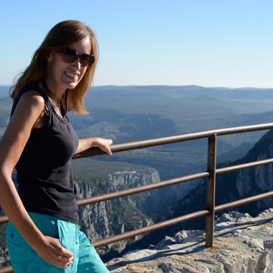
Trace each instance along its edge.
<instances>
[{"instance_id":1,"label":"clear pale blue sky above the distant hills","mask_svg":"<svg viewBox=\"0 0 273 273\"><path fill-rule=\"evenodd\" d=\"M0 84L59 21L99 45L94 85L273 88L272 0L0 0Z\"/></svg>"}]
</instances>

